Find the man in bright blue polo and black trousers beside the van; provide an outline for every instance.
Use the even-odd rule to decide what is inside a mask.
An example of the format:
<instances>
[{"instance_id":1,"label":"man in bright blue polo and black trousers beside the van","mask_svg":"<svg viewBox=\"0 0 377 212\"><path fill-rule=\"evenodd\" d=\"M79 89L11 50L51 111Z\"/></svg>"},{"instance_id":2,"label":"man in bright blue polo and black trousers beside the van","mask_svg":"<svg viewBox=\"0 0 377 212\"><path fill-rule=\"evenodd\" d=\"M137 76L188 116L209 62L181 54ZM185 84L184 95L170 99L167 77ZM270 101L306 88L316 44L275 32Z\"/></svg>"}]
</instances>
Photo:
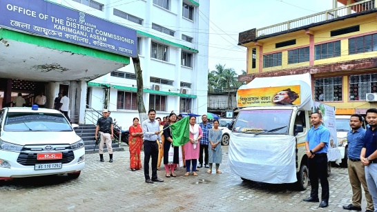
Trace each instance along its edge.
<instances>
[{"instance_id":1,"label":"man in bright blue polo and black trousers beside the van","mask_svg":"<svg viewBox=\"0 0 377 212\"><path fill-rule=\"evenodd\" d=\"M329 181L327 180L327 148L329 146L330 132L322 126L322 115L313 113L310 117L313 126L309 129L305 141L307 149L309 179L311 184L310 197L304 202L319 202L318 178L322 187L322 201L320 207L329 206Z\"/></svg>"}]
</instances>

